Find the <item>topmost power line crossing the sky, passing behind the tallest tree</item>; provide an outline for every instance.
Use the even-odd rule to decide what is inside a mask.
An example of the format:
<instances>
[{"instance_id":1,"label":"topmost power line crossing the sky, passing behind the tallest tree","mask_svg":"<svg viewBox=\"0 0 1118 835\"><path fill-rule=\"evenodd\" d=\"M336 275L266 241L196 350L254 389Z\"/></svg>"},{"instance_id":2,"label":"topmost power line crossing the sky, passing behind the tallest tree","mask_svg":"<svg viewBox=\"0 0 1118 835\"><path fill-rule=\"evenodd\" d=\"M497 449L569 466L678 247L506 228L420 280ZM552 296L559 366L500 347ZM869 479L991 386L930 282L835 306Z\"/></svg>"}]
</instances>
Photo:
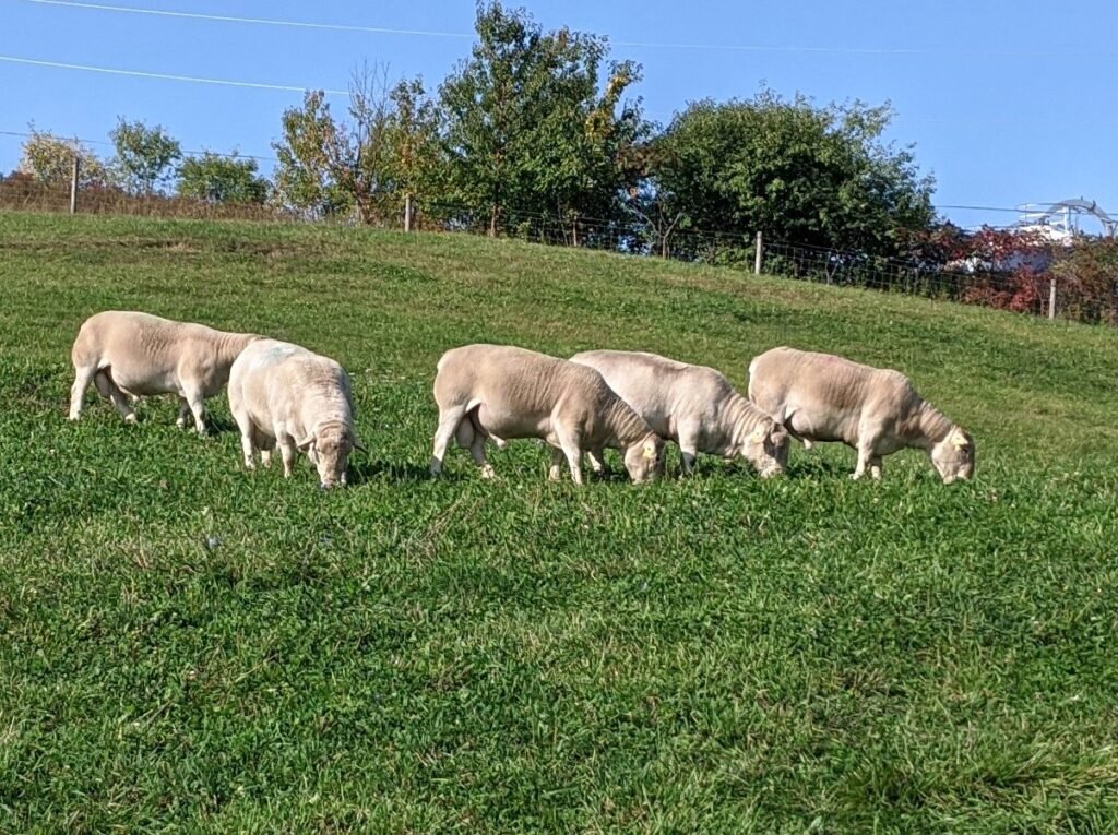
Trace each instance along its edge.
<instances>
[{"instance_id":1,"label":"topmost power line crossing the sky, passing behind the tallest tree","mask_svg":"<svg viewBox=\"0 0 1118 835\"><path fill-rule=\"evenodd\" d=\"M246 18L233 15L203 15L200 12L165 11L161 9L144 9L134 6L111 6L106 3L79 2L78 0L27 0L40 6L65 6L93 11L114 11L130 15L149 15L170 18L187 18L192 20L210 20L225 23L249 23L257 26L280 26L299 29L322 29L332 31L367 32L375 35L402 35L428 38L467 39L475 37L474 32L448 32L427 29L394 29L378 26L359 26L351 23L316 23L305 20L283 20L278 18ZM669 41L613 40L613 46L642 49L683 49L731 53L805 53L819 55L881 55L881 56L954 56L967 58L1116 58L1118 53L1081 53L1081 51L1043 51L1043 50L989 50L989 49L922 49L908 47L833 47L833 46L780 46L762 44L686 44Z\"/></svg>"}]
</instances>

